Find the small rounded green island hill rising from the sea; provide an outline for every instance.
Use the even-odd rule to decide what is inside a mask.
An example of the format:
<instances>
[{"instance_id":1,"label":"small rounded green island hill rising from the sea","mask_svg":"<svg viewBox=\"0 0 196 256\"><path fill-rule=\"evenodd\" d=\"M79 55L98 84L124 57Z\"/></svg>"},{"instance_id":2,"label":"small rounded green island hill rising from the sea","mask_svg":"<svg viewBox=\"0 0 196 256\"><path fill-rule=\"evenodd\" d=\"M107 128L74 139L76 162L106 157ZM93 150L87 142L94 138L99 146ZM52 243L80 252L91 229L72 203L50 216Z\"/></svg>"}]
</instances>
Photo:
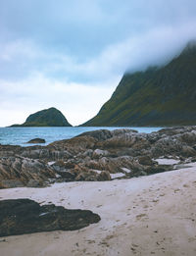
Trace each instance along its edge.
<instances>
[{"instance_id":1,"label":"small rounded green island hill rising from the sea","mask_svg":"<svg viewBox=\"0 0 196 256\"><path fill-rule=\"evenodd\" d=\"M31 114L23 125L12 127L72 127L72 125L58 109L49 108Z\"/></svg>"}]
</instances>

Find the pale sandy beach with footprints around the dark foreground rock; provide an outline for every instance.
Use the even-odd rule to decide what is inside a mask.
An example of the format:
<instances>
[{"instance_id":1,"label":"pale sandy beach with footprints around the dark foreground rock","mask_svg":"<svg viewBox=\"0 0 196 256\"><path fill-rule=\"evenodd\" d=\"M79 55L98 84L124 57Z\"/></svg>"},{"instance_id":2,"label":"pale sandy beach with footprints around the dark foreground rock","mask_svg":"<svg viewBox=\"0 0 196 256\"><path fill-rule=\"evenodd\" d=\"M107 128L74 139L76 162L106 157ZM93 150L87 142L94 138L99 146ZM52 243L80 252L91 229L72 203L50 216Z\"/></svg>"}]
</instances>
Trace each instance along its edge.
<instances>
[{"instance_id":1,"label":"pale sandy beach with footprints around the dark foreground rock","mask_svg":"<svg viewBox=\"0 0 196 256\"><path fill-rule=\"evenodd\" d=\"M82 230L0 238L1 256L196 255L196 164L137 179L56 183L0 190L1 199L31 198L89 209L102 220Z\"/></svg>"}]
</instances>

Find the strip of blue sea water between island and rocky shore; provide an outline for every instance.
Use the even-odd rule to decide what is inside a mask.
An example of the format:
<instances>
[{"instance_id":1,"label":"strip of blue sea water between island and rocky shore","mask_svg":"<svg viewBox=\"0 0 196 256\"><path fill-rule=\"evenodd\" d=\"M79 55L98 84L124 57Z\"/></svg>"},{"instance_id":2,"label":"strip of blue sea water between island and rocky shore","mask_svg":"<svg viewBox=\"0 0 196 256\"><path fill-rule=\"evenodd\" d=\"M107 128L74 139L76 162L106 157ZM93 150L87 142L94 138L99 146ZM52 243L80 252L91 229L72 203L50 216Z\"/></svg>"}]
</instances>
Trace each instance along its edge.
<instances>
[{"instance_id":1,"label":"strip of blue sea water between island and rocky shore","mask_svg":"<svg viewBox=\"0 0 196 256\"><path fill-rule=\"evenodd\" d=\"M44 138L45 145L66 138L72 138L84 131L101 129L99 128L0 128L0 144L29 146L26 142L32 138ZM116 129L116 128L104 128ZM133 128L139 132L150 133L161 128ZM42 144L44 145L44 144Z\"/></svg>"}]
</instances>

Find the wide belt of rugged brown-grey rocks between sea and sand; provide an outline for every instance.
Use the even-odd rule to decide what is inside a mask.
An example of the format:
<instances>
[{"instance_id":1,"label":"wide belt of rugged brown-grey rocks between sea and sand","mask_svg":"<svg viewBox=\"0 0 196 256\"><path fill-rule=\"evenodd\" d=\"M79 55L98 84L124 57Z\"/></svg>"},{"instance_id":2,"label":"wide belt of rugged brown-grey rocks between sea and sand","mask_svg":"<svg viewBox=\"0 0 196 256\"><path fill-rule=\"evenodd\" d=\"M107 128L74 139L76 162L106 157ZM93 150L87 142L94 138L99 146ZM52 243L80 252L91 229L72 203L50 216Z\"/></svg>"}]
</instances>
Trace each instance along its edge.
<instances>
[{"instance_id":1,"label":"wide belt of rugged brown-grey rocks between sea and sand","mask_svg":"<svg viewBox=\"0 0 196 256\"><path fill-rule=\"evenodd\" d=\"M168 164L162 159L168 159ZM172 161L170 161L172 160ZM100 129L47 146L0 145L0 188L147 176L196 161L196 127Z\"/></svg>"}]
</instances>

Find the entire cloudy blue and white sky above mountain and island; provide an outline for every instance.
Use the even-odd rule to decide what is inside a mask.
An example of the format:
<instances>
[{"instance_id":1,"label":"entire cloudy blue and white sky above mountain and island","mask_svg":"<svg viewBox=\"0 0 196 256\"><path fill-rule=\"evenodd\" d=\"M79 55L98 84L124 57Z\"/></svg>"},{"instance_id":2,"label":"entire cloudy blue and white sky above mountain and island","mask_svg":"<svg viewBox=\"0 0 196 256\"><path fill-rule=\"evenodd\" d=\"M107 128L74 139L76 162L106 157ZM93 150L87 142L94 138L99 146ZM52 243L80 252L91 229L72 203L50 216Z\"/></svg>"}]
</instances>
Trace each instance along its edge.
<instances>
[{"instance_id":1,"label":"entire cloudy blue and white sky above mountain and island","mask_svg":"<svg viewBox=\"0 0 196 256\"><path fill-rule=\"evenodd\" d=\"M1 0L0 127L50 107L86 122L125 72L195 39L195 14L195 0Z\"/></svg>"}]
</instances>

